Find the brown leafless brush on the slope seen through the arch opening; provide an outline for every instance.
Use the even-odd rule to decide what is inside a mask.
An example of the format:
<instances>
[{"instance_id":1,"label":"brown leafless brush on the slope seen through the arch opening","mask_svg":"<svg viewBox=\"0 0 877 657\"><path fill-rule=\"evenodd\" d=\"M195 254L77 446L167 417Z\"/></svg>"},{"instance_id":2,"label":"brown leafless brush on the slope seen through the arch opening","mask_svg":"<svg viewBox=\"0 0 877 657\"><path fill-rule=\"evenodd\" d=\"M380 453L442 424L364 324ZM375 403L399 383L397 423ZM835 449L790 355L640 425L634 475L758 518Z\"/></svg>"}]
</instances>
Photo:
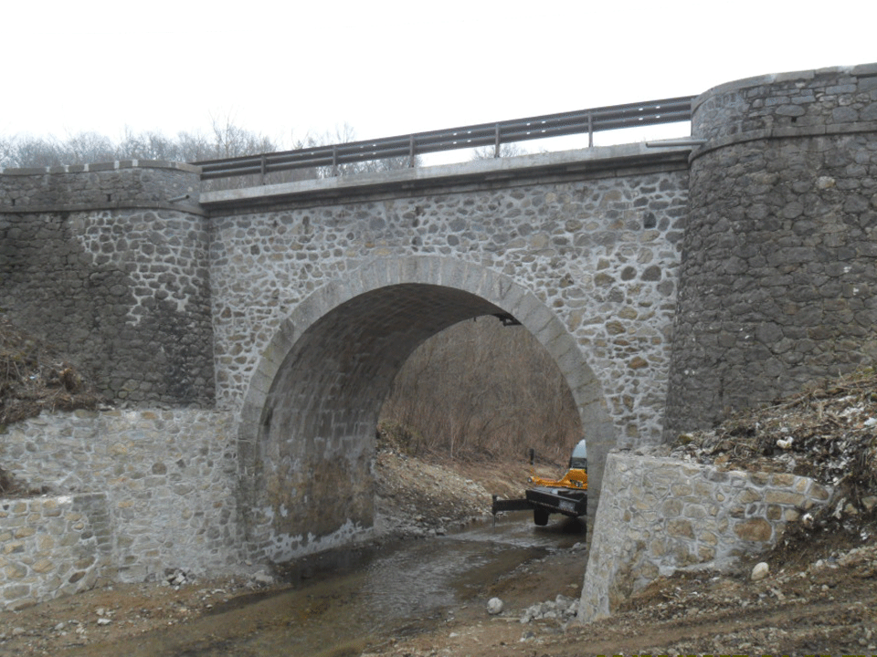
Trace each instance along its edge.
<instances>
[{"instance_id":1,"label":"brown leafless brush on the slope seen through the arch opening","mask_svg":"<svg viewBox=\"0 0 877 657\"><path fill-rule=\"evenodd\" d=\"M418 348L394 381L383 431L412 454L565 463L582 427L554 360L520 326L461 322Z\"/></svg>"}]
</instances>

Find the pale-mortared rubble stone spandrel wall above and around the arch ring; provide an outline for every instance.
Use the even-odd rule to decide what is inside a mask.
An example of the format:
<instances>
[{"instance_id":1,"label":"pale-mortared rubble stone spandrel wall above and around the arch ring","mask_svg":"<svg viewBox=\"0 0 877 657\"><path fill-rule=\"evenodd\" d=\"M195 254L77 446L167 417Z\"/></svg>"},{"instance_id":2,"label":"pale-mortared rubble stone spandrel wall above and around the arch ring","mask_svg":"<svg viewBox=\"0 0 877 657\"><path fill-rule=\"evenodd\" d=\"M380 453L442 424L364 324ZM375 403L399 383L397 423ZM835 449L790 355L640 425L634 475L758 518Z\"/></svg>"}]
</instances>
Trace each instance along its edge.
<instances>
[{"instance_id":1,"label":"pale-mortared rubble stone spandrel wall above and around the arch ring","mask_svg":"<svg viewBox=\"0 0 877 657\"><path fill-rule=\"evenodd\" d=\"M280 321L318 287L375 259L441 255L532 290L597 372L620 440L657 442L686 187L684 171L613 172L317 207L293 199L259 213L211 211L217 403L239 410Z\"/></svg>"}]
</instances>

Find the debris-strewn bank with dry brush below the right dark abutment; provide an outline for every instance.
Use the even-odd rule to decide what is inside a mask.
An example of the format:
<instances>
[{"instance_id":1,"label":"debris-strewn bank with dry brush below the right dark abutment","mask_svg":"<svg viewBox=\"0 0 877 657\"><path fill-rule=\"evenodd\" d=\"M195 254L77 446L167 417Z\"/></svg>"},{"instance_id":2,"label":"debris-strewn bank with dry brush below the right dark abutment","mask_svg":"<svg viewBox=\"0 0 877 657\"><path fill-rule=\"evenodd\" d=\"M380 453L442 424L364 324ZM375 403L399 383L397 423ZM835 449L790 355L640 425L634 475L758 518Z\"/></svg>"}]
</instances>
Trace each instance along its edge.
<instances>
[{"instance_id":1,"label":"debris-strewn bank with dry brush below the right dark abutment","mask_svg":"<svg viewBox=\"0 0 877 657\"><path fill-rule=\"evenodd\" d=\"M790 561L877 536L877 371L813 381L804 391L734 414L711 431L683 433L671 455L720 468L808 476L830 504L787 527L775 556Z\"/></svg>"}]
</instances>

